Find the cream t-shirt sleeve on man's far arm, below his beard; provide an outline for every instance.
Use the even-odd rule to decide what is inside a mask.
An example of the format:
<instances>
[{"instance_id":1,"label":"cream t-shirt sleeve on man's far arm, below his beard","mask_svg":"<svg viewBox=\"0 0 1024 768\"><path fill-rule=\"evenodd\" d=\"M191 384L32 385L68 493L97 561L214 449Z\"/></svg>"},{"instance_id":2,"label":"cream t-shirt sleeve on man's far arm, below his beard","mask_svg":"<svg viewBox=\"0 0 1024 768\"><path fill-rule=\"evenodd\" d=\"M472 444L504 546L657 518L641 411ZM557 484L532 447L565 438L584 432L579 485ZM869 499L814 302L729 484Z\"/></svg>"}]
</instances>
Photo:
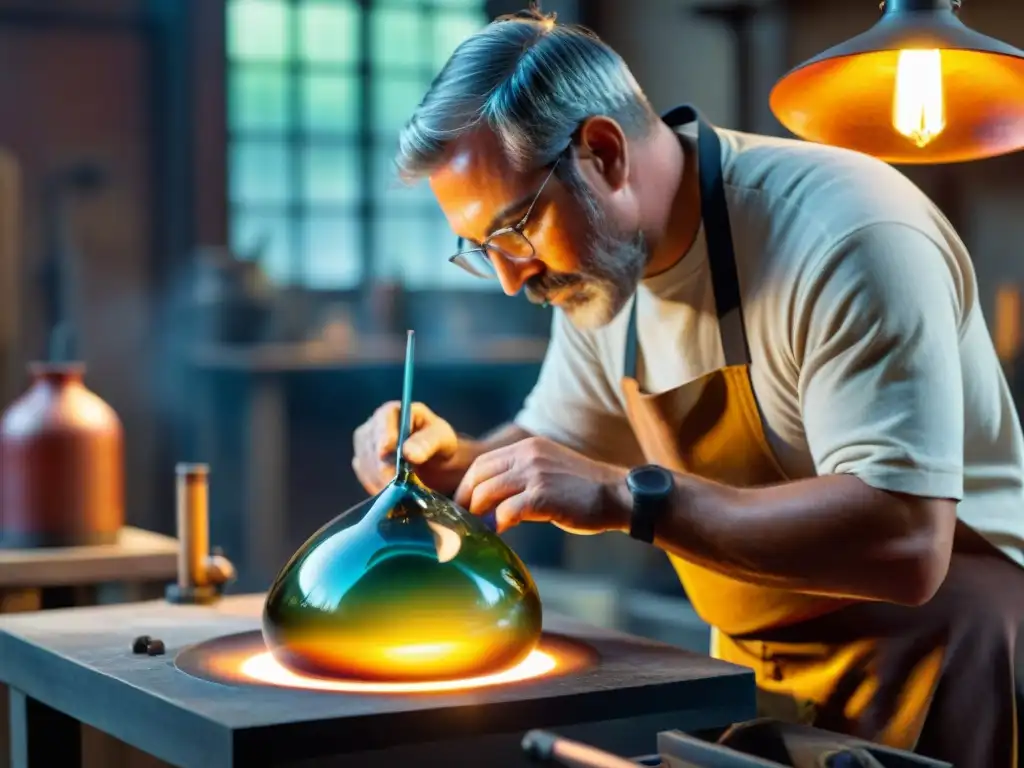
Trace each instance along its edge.
<instances>
[{"instance_id":1,"label":"cream t-shirt sleeve on man's far arm, below his beard","mask_svg":"<svg viewBox=\"0 0 1024 768\"><path fill-rule=\"evenodd\" d=\"M640 449L616 386L608 380L593 339L556 309L541 374L515 423L592 459L639 464Z\"/></svg>"}]
</instances>

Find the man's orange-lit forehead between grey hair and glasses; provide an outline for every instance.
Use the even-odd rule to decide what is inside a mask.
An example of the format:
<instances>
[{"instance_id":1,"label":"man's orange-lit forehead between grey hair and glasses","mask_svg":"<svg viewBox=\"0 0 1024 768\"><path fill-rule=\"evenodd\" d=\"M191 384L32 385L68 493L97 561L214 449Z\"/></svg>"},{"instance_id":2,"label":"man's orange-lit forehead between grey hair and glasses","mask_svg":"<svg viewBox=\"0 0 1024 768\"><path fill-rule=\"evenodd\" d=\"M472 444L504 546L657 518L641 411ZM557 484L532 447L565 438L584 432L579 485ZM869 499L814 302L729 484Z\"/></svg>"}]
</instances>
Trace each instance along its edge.
<instances>
[{"instance_id":1,"label":"man's orange-lit forehead between grey hair and glasses","mask_svg":"<svg viewBox=\"0 0 1024 768\"><path fill-rule=\"evenodd\" d=\"M488 130L460 138L430 175L430 186L452 228L473 240L489 233L495 213L528 191L524 174Z\"/></svg>"}]
</instances>

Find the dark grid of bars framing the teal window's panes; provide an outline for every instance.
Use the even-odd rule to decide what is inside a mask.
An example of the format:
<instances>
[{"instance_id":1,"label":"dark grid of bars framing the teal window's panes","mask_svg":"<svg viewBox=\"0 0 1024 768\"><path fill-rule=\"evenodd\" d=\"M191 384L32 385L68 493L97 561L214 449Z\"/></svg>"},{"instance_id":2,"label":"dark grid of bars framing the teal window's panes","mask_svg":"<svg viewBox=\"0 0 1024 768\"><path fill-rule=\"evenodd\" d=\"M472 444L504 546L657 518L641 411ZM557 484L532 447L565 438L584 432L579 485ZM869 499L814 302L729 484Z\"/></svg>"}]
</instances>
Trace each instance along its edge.
<instances>
[{"instance_id":1,"label":"dark grid of bars framing the teal window's panes","mask_svg":"<svg viewBox=\"0 0 1024 768\"><path fill-rule=\"evenodd\" d=\"M256 0L257 2L259 0ZM384 222L387 226L401 227L409 226L422 227L423 231L429 231L431 226L440 227L443 216L440 214L436 203L416 199L413 201L402 201L395 206L385 206L386 187L382 188L380 176L380 159L385 152L393 152L396 148L397 131L393 134L383 132L375 118L379 115L378 101L385 88L381 87L389 78L402 76L413 79L419 78L426 90L430 80L434 76L434 65L437 59L435 55L435 19L439 15L451 15L457 18L460 15L466 17L471 14L479 14L480 26L488 20L486 15L486 2L479 0L475 3L452 3L443 0L419 0L412 3L396 0L345 0L350 3L356 13L355 24L357 31L355 34L356 52L351 63L344 62L311 62L301 54L302 46L302 24L300 20L300 9L303 6L315 5L337 5L340 3L331 0L281 0L281 4L288 9L288 25L285 35L285 51L283 58L251 58L234 55L231 50L232 40L232 8L242 3L253 2L253 0L227 0L224 4L225 18L225 78L227 80L226 98L227 105L227 135L225 138L228 153L228 194L227 194L227 215L228 230L230 231L230 244L233 249L246 248L251 244L248 242L237 242L236 226L247 214L265 211L267 214L285 221L288 253L288 278L284 281L276 280L283 288L301 289L317 293L347 293L358 291L366 285L381 280L389 280L395 275L390 274L385 265L389 262L383 250L379 229ZM397 66L383 67L374 60L373 35L374 35L374 13L384 8L414 9L419 14L421 34L423 35L420 45L422 53L422 63L417 63L411 68L400 68ZM234 83L236 77L246 72L280 72L285 81L285 112L283 115L283 128L251 128L239 126L236 123L237 106L234 99L238 98ZM318 73L330 74L338 77L353 77L355 79L355 111L356 121L352 130L310 130L304 116L305 94L304 87L310 75ZM385 86L386 87L386 86ZM284 202L251 202L239 200L234 191L234 179L239 173L233 154L237 147L248 141L267 141L272 145L284 150L286 155L286 165L288 173L288 194ZM303 164L304 153L310 147L336 146L345 147L352 151L355 164L355 188L357 195L351 201L346 202L326 202L317 203L308 199L305 185L308 180L306 169ZM390 180L389 180L390 181ZM396 179L395 179L396 181ZM394 193L400 196L403 191ZM421 194L422 195L422 194ZM389 208L387 212L385 208ZM400 210L404 215L395 215L395 210ZM311 258L310 242L307 227L310 222L316 221L323 214L321 221L332 221L334 217L347 217L354 227L354 242L357 244L358 255L356 266L357 279L351 284L331 284L317 285L314 276L309 274L308 264ZM440 244L441 238L438 237ZM428 240L429 242L429 240ZM455 236L452 236L454 247ZM240 254L245 255L245 254ZM447 266L444 262L446 252L435 254L438 269ZM394 269L394 260L390 260L390 266ZM451 267L450 267L451 268ZM406 273L407 269L398 262L397 271ZM434 270L422 270L425 273L433 273ZM422 276L422 275L420 275ZM450 275L452 279L442 281L424 282L418 278L404 281L404 288L409 291L432 291L432 290L468 290L473 293L494 290L490 286L476 285L469 283L461 275ZM480 281L480 283L487 283Z\"/></svg>"}]
</instances>

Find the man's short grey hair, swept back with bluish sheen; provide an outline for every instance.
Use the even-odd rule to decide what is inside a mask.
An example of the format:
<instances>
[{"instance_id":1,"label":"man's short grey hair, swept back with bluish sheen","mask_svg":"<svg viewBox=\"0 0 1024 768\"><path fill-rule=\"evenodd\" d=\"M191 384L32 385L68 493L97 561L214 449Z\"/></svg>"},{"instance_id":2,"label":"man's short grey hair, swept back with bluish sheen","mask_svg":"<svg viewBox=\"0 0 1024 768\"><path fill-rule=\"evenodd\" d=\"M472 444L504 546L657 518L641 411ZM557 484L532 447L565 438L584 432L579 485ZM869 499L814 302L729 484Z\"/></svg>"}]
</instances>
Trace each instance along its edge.
<instances>
[{"instance_id":1,"label":"man's short grey hair, swept back with bluish sheen","mask_svg":"<svg viewBox=\"0 0 1024 768\"><path fill-rule=\"evenodd\" d=\"M615 51L587 29L530 9L459 45L402 130L395 163L407 181L429 175L453 142L487 127L512 166L529 170L553 162L595 115L630 138L657 119Z\"/></svg>"}]
</instances>

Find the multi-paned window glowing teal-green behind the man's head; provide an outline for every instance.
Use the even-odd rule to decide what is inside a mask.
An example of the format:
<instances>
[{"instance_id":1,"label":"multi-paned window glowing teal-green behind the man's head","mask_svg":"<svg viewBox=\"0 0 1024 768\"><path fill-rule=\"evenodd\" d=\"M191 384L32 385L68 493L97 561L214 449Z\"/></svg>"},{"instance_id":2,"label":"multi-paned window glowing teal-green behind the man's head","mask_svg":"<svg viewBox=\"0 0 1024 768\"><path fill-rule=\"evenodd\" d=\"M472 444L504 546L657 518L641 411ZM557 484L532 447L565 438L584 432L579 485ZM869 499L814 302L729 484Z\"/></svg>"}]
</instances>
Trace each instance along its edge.
<instances>
[{"instance_id":1,"label":"multi-paned window glowing teal-green behind the man's head","mask_svg":"<svg viewBox=\"0 0 1024 768\"><path fill-rule=\"evenodd\" d=\"M392 168L434 75L483 0L228 0L231 246L278 284L493 290L456 267L425 183Z\"/></svg>"}]
</instances>

